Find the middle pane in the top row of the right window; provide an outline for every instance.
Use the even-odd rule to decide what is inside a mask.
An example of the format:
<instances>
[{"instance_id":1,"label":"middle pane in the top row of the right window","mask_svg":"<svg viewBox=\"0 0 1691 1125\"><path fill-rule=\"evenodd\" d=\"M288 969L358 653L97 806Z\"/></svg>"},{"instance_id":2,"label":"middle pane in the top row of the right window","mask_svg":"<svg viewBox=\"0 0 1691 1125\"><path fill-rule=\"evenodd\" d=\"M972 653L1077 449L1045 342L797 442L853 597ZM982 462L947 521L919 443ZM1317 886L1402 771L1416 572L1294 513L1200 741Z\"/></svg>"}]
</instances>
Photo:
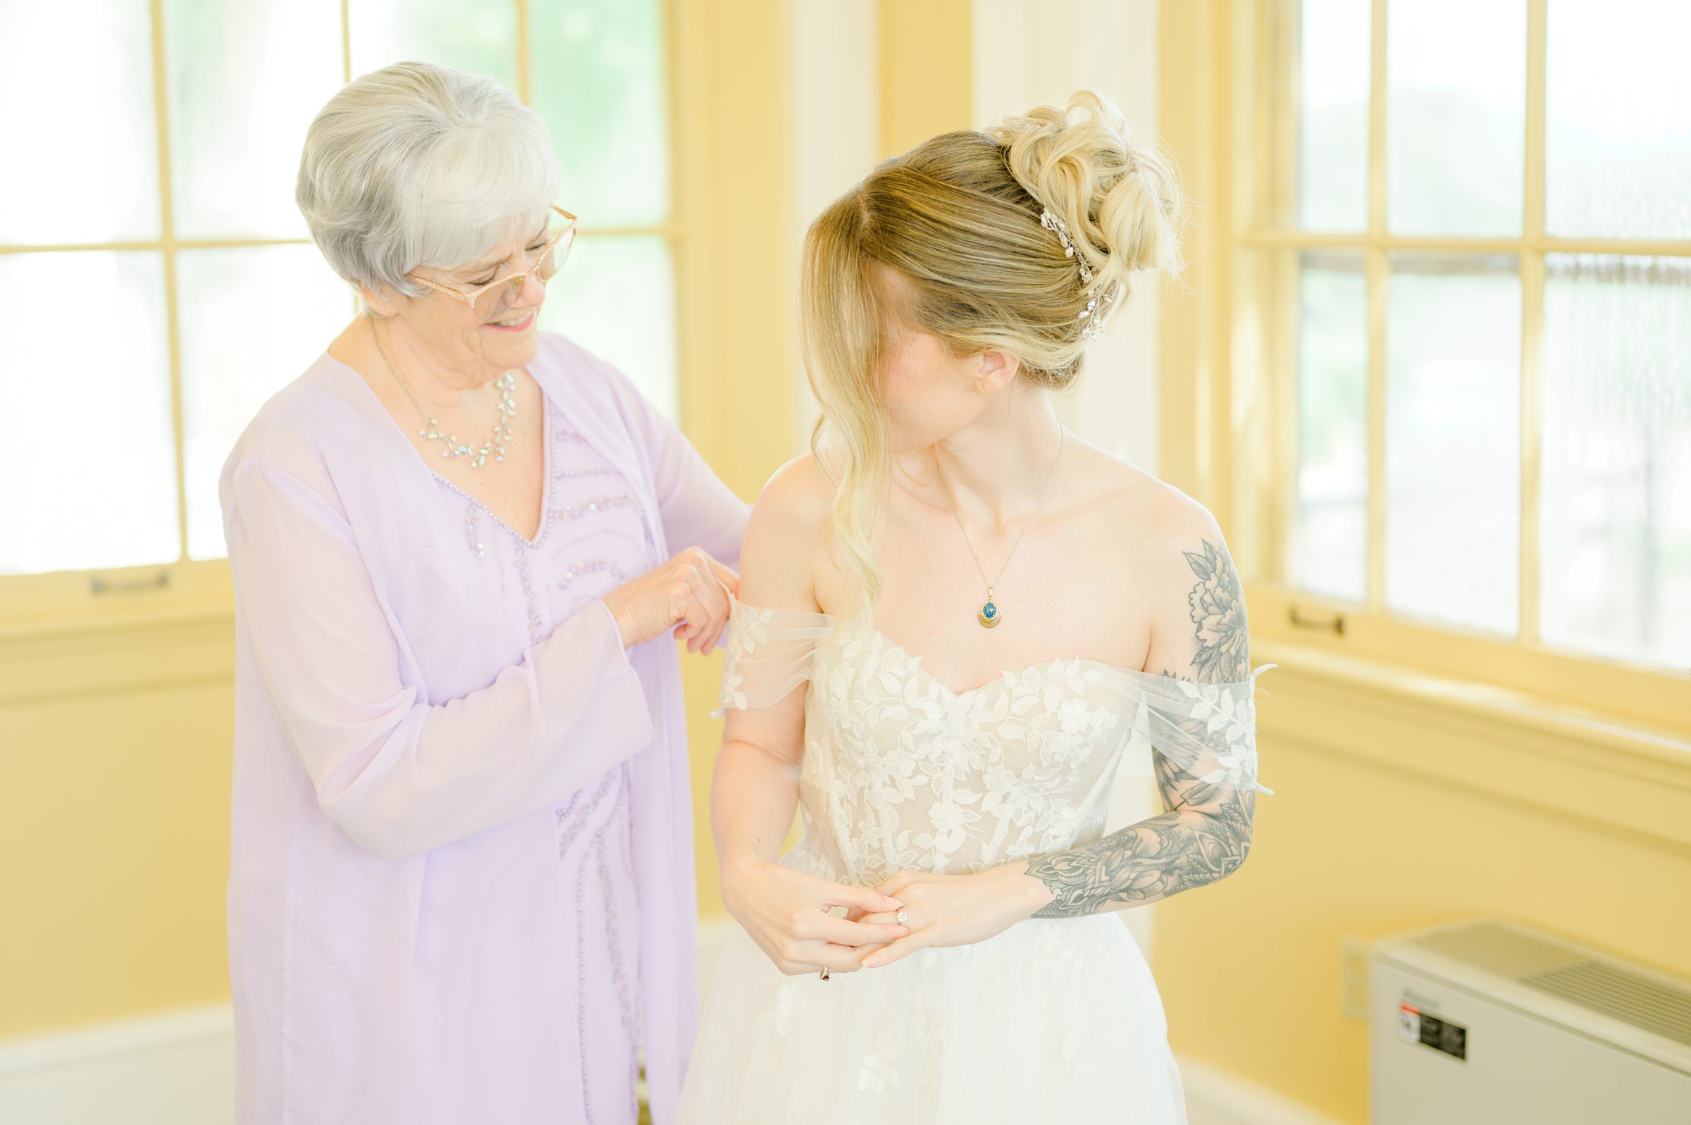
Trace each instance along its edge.
<instances>
[{"instance_id":1,"label":"middle pane in the top row of the right window","mask_svg":"<svg viewBox=\"0 0 1691 1125\"><path fill-rule=\"evenodd\" d=\"M1397 233L1520 232L1522 0L1387 5L1387 211Z\"/></svg>"}]
</instances>

